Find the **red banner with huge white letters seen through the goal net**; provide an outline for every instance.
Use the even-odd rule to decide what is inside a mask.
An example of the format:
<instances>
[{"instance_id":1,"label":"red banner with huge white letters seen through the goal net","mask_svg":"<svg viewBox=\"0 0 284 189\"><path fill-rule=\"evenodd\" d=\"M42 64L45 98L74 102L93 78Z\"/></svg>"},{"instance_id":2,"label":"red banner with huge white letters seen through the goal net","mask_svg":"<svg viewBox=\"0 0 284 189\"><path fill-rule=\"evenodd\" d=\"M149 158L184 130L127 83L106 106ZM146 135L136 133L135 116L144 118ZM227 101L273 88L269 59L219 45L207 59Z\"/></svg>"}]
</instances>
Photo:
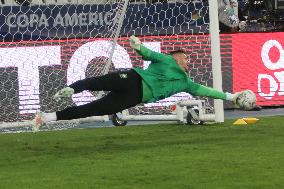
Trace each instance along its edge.
<instances>
[{"instance_id":1,"label":"red banner with huge white letters seen through the goal net","mask_svg":"<svg viewBox=\"0 0 284 189\"><path fill-rule=\"evenodd\" d=\"M191 77L205 85L212 83L208 35L144 36L140 39L146 47L157 52L186 50L190 56ZM130 48L128 37L118 39L111 56L113 45L105 38L0 43L0 109L3 110L0 121L16 120L18 114L24 117L39 110L56 110L58 105L51 96L58 89L103 74L110 58L111 71L148 67L150 62L142 60ZM145 106L161 108L188 98L190 94L179 93ZM73 95L73 103L77 105L95 99L97 95L88 91Z\"/></svg>"}]
</instances>

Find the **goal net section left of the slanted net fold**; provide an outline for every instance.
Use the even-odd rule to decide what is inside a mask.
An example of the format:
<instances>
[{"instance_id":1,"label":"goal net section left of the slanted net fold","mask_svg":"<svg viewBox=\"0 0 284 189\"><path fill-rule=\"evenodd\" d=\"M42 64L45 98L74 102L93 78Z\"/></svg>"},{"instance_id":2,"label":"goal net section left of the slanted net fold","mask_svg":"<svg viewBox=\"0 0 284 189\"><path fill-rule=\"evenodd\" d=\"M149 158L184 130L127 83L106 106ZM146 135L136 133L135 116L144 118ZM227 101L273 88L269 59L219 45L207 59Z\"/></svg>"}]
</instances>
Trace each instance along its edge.
<instances>
[{"instance_id":1,"label":"goal net section left of the slanted net fold","mask_svg":"<svg viewBox=\"0 0 284 189\"><path fill-rule=\"evenodd\" d=\"M7 32L0 49L0 96L3 99L0 129L4 131L7 125L26 130L29 127L25 124L30 126L31 122L25 120L32 119L36 111L52 112L75 105L71 100L56 103L52 96L67 84L102 75L102 70L110 69L107 62L113 59L111 54L115 54L113 44L128 2L96 3L1 7L2 12L9 12L7 17L2 15L5 25L0 26L1 31ZM45 28L41 29L43 26ZM24 29L26 31L21 31ZM31 38L28 42L23 41L27 37L25 33ZM41 41L41 38L47 40ZM94 52L96 56L90 56ZM71 77L68 78L68 74ZM92 94L79 96L83 97L77 105L94 99ZM77 124L78 121L51 123L43 129L72 128Z\"/></svg>"}]
</instances>

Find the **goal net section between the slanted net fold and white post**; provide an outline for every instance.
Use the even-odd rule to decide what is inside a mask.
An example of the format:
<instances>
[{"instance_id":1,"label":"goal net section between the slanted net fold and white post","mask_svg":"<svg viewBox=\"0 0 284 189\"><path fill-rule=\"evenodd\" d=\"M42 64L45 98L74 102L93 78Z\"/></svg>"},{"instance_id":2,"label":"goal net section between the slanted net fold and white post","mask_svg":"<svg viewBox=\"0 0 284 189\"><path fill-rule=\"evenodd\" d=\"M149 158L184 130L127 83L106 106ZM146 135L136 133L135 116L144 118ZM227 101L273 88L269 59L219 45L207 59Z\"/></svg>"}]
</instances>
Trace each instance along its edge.
<instances>
[{"instance_id":1,"label":"goal net section between the slanted net fold and white post","mask_svg":"<svg viewBox=\"0 0 284 189\"><path fill-rule=\"evenodd\" d=\"M136 14L126 18L128 20L127 23L135 25L136 29L128 31L126 28L124 32L128 36L131 34L140 36L144 45L162 53L168 53L177 49L185 50L190 59L189 75L198 83L212 86L208 4L205 1L195 1L183 4L168 4L166 9L164 9L162 4L136 8L129 7L129 9L132 9L131 12L136 12ZM151 9L156 11L153 14L149 14L148 10ZM170 19L160 20L160 18L167 17L166 15L170 14L172 14ZM124 46L128 48L128 44ZM141 57L134 54L132 64L146 68L149 62L141 61ZM188 98L190 98L189 94L179 93L157 103L136 106L130 109L130 113L169 113L171 112L170 107L175 101ZM212 107L210 104L207 101L208 107ZM213 109L210 109L210 111L212 112Z\"/></svg>"}]
</instances>

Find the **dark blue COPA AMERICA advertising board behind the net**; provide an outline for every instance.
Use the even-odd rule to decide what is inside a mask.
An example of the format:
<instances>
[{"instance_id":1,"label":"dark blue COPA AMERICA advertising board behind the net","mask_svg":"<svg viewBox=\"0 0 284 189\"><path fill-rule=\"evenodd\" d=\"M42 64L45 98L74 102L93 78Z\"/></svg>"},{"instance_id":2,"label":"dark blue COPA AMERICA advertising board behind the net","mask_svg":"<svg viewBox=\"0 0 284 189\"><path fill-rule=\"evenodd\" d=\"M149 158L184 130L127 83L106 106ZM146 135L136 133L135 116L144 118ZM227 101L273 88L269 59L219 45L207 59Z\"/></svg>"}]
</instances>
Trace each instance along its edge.
<instances>
[{"instance_id":1,"label":"dark blue COPA AMERICA advertising board behind the net","mask_svg":"<svg viewBox=\"0 0 284 189\"><path fill-rule=\"evenodd\" d=\"M114 29L117 4L0 7L0 38L40 40L107 36ZM130 4L120 35L207 32L208 5Z\"/></svg>"}]
</instances>

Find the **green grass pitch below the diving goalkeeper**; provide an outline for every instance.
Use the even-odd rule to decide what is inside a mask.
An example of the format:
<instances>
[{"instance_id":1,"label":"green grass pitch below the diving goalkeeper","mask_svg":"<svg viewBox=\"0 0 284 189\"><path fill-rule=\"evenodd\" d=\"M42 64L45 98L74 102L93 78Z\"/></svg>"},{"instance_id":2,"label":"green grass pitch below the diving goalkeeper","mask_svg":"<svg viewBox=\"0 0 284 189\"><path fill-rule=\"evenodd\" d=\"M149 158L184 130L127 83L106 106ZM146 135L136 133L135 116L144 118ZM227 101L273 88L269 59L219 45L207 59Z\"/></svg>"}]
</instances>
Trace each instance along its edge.
<instances>
[{"instance_id":1,"label":"green grass pitch below the diving goalkeeper","mask_svg":"<svg viewBox=\"0 0 284 189\"><path fill-rule=\"evenodd\" d=\"M284 186L284 117L0 134L0 189Z\"/></svg>"}]
</instances>

